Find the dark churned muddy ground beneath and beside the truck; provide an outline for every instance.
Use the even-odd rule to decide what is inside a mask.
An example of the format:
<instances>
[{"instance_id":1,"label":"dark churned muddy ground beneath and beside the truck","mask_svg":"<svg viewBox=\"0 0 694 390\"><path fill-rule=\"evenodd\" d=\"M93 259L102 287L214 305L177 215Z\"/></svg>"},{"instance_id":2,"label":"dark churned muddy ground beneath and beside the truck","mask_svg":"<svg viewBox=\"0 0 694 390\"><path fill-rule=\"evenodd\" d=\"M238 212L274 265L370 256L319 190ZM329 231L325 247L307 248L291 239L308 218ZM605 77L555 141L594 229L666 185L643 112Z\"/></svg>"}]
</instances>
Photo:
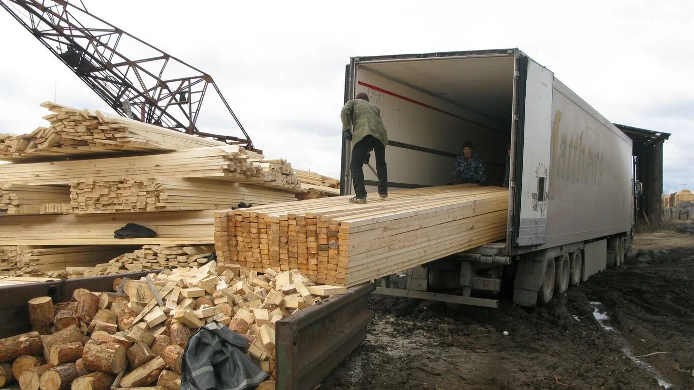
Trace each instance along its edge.
<instances>
[{"instance_id":1,"label":"dark churned muddy ground beneath and beside the truck","mask_svg":"<svg viewBox=\"0 0 694 390\"><path fill-rule=\"evenodd\" d=\"M595 320L594 302L612 330ZM659 375L670 389L694 389L694 236L640 235L624 266L534 310L509 298L457 313L387 296L370 305L366 341L321 389L666 388Z\"/></svg>"}]
</instances>

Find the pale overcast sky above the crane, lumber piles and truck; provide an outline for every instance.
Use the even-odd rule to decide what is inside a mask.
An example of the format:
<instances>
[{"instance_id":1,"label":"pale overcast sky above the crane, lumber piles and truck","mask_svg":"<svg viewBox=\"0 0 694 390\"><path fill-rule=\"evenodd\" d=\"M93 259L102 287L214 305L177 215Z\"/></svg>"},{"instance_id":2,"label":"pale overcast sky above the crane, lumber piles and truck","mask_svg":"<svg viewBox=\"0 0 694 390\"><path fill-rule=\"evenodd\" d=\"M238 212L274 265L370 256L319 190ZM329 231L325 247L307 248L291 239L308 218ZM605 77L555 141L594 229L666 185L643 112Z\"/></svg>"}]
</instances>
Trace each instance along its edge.
<instances>
[{"instance_id":1,"label":"pale overcast sky above the crane, lumber piles and truck","mask_svg":"<svg viewBox=\"0 0 694 390\"><path fill-rule=\"evenodd\" d=\"M663 188L694 187L690 1L83 1L211 74L256 146L294 167L339 176L351 56L518 47L610 121L672 133ZM54 96L108 109L3 10L0 34L0 133L44 125Z\"/></svg>"}]
</instances>

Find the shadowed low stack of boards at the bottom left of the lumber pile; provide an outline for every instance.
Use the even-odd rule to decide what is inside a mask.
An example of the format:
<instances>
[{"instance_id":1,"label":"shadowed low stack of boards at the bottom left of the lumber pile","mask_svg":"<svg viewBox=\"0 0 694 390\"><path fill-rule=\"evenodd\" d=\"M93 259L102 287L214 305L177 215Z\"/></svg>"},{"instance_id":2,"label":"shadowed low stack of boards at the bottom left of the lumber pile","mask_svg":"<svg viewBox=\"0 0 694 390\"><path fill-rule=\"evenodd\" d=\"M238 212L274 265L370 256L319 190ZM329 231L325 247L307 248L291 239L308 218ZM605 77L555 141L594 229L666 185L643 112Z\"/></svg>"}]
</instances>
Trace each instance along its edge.
<instances>
[{"instance_id":1,"label":"shadowed low stack of boards at the bottom left of the lumber pile","mask_svg":"<svg viewBox=\"0 0 694 390\"><path fill-rule=\"evenodd\" d=\"M94 265L107 262L139 248L129 245L81 245L51 246L46 248L24 247L17 257L17 268L23 275L51 275L53 278L66 276L66 270L92 269ZM40 271L40 272L39 272ZM69 272L69 271L68 271Z\"/></svg>"}]
</instances>

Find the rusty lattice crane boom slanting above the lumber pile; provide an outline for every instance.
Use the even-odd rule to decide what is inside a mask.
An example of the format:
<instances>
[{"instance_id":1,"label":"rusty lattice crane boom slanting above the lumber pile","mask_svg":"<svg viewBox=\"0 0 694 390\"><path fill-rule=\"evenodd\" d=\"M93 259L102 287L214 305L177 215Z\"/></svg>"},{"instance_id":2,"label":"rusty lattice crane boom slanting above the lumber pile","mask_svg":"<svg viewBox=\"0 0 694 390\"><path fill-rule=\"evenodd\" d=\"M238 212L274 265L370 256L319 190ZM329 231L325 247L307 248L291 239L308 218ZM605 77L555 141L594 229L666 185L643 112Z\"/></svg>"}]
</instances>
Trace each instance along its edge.
<instances>
[{"instance_id":1,"label":"rusty lattice crane boom slanting above the lumber pile","mask_svg":"<svg viewBox=\"0 0 694 390\"><path fill-rule=\"evenodd\" d=\"M253 149L212 76L65 0L0 0L47 49L119 114ZM201 132L196 126L212 85L242 133Z\"/></svg>"}]
</instances>

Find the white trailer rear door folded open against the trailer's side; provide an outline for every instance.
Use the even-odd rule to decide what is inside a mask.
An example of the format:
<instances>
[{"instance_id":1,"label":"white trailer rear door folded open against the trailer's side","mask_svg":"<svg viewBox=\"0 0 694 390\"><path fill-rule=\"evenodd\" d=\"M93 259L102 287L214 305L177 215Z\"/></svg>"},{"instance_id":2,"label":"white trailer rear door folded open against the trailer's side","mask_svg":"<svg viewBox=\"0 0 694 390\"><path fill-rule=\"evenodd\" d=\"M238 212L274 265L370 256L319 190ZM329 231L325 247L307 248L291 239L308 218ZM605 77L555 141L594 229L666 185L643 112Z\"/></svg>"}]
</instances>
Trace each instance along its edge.
<instances>
[{"instance_id":1,"label":"white trailer rear door folded open against the trailer's side","mask_svg":"<svg viewBox=\"0 0 694 390\"><path fill-rule=\"evenodd\" d=\"M518 126L516 131L516 205L514 246L545 244L552 138L554 74L521 55L518 60Z\"/></svg>"}]
</instances>

